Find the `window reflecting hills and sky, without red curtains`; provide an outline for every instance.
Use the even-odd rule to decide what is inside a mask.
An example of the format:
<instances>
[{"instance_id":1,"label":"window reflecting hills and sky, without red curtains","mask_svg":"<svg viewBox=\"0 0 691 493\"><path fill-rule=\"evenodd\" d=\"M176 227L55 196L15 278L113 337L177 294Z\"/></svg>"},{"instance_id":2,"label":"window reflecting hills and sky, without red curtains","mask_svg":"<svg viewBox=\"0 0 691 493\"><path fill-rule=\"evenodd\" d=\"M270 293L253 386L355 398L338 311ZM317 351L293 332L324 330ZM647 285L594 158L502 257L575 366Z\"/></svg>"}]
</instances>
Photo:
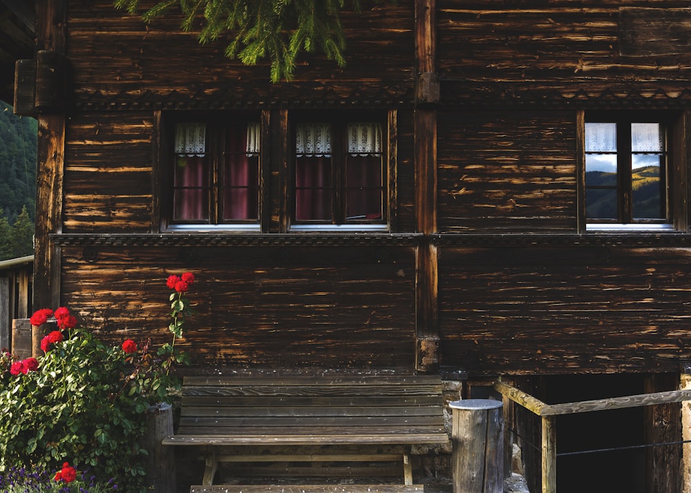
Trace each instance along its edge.
<instances>
[{"instance_id":1,"label":"window reflecting hills and sky, without red curtains","mask_svg":"<svg viewBox=\"0 0 691 493\"><path fill-rule=\"evenodd\" d=\"M612 117L585 123L585 215L591 224L672 221L668 124Z\"/></svg>"}]
</instances>

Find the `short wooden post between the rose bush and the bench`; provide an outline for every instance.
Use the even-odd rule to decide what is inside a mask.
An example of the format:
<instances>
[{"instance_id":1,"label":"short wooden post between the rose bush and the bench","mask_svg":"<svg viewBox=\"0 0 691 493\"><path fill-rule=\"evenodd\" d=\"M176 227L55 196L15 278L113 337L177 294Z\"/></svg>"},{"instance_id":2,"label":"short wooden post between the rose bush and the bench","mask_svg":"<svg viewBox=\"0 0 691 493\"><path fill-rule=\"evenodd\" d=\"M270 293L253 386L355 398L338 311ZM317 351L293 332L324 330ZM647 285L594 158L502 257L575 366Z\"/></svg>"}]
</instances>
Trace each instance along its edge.
<instances>
[{"instance_id":1,"label":"short wooden post between the rose bush and the bench","mask_svg":"<svg viewBox=\"0 0 691 493\"><path fill-rule=\"evenodd\" d=\"M160 403L146 413L149 428L146 432L146 482L154 493L176 491L175 452L162 444L163 438L173 434L173 408Z\"/></svg>"}]
</instances>

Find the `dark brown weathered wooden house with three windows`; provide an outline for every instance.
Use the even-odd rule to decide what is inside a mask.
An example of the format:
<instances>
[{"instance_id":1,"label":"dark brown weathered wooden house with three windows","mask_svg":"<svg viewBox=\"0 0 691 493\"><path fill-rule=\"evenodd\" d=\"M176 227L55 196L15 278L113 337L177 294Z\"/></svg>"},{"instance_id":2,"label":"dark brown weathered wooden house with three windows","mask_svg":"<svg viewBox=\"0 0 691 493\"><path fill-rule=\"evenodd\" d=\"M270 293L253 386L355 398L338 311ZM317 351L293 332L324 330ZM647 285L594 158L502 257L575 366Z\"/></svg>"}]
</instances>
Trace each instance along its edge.
<instances>
[{"instance_id":1,"label":"dark brown weathered wooden house with three windows","mask_svg":"<svg viewBox=\"0 0 691 493\"><path fill-rule=\"evenodd\" d=\"M679 387L688 2L368 4L343 14L345 67L305 57L278 84L175 16L35 4L15 90L39 120L35 307L164 341L165 279L191 271L199 371L439 372L554 402ZM617 416L562 443L674 443L583 467L680 491L679 405Z\"/></svg>"}]
</instances>

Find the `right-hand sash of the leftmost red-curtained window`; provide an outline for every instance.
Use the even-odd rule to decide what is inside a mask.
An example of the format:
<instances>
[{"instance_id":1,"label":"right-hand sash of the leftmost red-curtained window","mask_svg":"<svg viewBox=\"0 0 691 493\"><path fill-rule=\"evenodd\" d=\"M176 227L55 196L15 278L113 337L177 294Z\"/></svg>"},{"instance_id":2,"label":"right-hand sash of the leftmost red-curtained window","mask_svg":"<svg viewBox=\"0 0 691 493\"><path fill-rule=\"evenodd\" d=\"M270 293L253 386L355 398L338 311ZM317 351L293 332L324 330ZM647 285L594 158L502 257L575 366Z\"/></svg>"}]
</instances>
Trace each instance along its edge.
<instances>
[{"instance_id":1,"label":"right-hand sash of the leftmost red-curtained window","mask_svg":"<svg viewBox=\"0 0 691 493\"><path fill-rule=\"evenodd\" d=\"M258 124L227 128L220 190L222 220L258 219L258 151Z\"/></svg>"}]
</instances>

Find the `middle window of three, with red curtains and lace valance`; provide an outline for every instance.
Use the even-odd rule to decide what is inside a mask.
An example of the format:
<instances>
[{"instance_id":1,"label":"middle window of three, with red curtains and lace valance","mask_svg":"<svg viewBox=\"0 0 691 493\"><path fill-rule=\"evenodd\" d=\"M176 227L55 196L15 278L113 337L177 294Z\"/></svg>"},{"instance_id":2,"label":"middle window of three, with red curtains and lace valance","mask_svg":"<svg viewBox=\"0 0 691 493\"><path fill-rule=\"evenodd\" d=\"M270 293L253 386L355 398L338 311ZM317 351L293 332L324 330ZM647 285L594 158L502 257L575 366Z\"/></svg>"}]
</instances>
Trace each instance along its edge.
<instances>
[{"instance_id":1,"label":"middle window of three, with red curtains and lace valance","mask_svg":"<svg viewBox=\"0 0 691 493\"><path fill-rule=\"evenodd\" d=\"M382 127L365 119L296 123L293 229L386 226Z\"/></svg>"}]
</instances>

